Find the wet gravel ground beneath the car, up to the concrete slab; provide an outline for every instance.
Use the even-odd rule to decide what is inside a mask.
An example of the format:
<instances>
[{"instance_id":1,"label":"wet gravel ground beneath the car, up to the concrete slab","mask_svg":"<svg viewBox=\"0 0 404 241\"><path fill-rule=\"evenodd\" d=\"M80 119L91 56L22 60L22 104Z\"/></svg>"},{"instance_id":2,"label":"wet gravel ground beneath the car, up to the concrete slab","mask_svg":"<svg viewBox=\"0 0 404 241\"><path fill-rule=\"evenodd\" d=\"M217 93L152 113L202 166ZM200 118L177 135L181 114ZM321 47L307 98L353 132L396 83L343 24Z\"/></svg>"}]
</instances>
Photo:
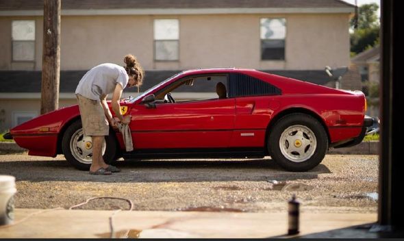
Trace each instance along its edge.
<instances>
[{"instance_id":1,"label":"wet gravel ground beneath the car, up to the concrete slab","mask_svg":"<svg viewBox=\"0 0 404 241\"><path fill-rule=\"evenodd\" d=\"M121 173L89 175L63 155L0 155L0 174L16 177L17 208L68 208L92 197L130 199L133 210L285 212L296 194L301 212L376 213L378 155L326 155L306 173L272 160L147 160L118 162ZM128 210L118 199L77 207Z\"/></svg>"}]
</instances>

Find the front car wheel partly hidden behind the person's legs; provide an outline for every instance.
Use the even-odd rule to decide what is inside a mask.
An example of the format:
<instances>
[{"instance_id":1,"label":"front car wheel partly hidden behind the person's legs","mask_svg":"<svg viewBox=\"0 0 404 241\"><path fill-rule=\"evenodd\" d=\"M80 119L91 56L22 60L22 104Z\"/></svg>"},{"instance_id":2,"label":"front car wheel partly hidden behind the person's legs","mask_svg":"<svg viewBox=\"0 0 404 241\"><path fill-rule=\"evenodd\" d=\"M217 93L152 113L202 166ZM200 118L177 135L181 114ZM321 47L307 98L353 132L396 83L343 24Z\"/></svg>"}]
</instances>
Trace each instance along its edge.
<instances>
[{"instance_id":1,"label":"front car wheel partly hidden behind the person's legs","mask_svg":"<svg viewBox=\"0 0 404 241\"><path fill-rule=\"evenodd\" d=\"M91 166L91 138L83 135L81 120L73 122L64 131L62 138L62 152L66 160L79 170L90 170ZM88 148L87 148L88 147ZM115 164L118 146L114 133L105 136L103 144L103 159L107 164Z\"/></svg>"}]
</instances>

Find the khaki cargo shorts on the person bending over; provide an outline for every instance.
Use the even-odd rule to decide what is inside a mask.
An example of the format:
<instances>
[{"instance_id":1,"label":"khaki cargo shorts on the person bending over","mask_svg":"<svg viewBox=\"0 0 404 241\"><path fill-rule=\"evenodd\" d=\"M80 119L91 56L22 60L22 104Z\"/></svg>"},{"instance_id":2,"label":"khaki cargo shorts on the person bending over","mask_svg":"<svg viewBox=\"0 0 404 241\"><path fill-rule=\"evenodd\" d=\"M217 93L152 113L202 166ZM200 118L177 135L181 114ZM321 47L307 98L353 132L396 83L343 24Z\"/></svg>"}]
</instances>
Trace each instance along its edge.
<instances>
[{"instance_id":1,"label":"khaki cargo shorts on the person bending over","mask_svg":"<svg viewBox=\"0 0 404 241\"><path fill-rule=\"evenodd\" d=\"M80 94L76 94L76 96L79 102L84 136L108 136L110 127L101 102L87 99Z\"/></svg>"}]
</instances>

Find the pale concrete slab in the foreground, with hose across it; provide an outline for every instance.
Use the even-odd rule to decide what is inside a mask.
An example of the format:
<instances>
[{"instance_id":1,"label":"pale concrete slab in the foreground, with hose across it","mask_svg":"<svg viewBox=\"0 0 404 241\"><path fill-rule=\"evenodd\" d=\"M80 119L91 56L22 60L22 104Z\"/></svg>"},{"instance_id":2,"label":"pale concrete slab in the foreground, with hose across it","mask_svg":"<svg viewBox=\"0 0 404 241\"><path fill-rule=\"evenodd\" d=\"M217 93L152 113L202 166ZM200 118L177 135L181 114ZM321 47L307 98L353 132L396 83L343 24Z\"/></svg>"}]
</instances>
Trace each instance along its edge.
<instances>
[{"instance_id":1,"label":"pale concrete slab in the foreground, with hose across it","mask_svg":"<svg viewBox=\"0 0 404 241\"><path fill-rule=\"evenodd\" d=\"M378 238L368 231L377 214L301 213L298 236L287 236L283 212L16 209L14 214L15 225L0 226L0 238L110 238L112 214L114 238Z\"/></svg>"}]
</instances>

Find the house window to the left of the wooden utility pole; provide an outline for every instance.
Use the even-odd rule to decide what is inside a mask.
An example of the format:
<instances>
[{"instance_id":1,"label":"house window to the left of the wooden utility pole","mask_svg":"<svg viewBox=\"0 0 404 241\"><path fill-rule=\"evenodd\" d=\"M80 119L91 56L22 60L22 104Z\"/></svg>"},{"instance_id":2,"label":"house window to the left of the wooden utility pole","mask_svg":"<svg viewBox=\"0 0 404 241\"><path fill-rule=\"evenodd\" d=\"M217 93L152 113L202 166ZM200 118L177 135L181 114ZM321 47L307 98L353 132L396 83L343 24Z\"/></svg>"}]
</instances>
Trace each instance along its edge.
<instances>
[{"instance_id":1,"label":"house window to the left of the wooden utility pole","mask_svg":"<svg viewBox=\"0 0 404 241\"><path fill-rule=\"evenodd\" d=\"M12 21L12 61L35 60L35 21Z\"/></svg>"}]
</instances>

